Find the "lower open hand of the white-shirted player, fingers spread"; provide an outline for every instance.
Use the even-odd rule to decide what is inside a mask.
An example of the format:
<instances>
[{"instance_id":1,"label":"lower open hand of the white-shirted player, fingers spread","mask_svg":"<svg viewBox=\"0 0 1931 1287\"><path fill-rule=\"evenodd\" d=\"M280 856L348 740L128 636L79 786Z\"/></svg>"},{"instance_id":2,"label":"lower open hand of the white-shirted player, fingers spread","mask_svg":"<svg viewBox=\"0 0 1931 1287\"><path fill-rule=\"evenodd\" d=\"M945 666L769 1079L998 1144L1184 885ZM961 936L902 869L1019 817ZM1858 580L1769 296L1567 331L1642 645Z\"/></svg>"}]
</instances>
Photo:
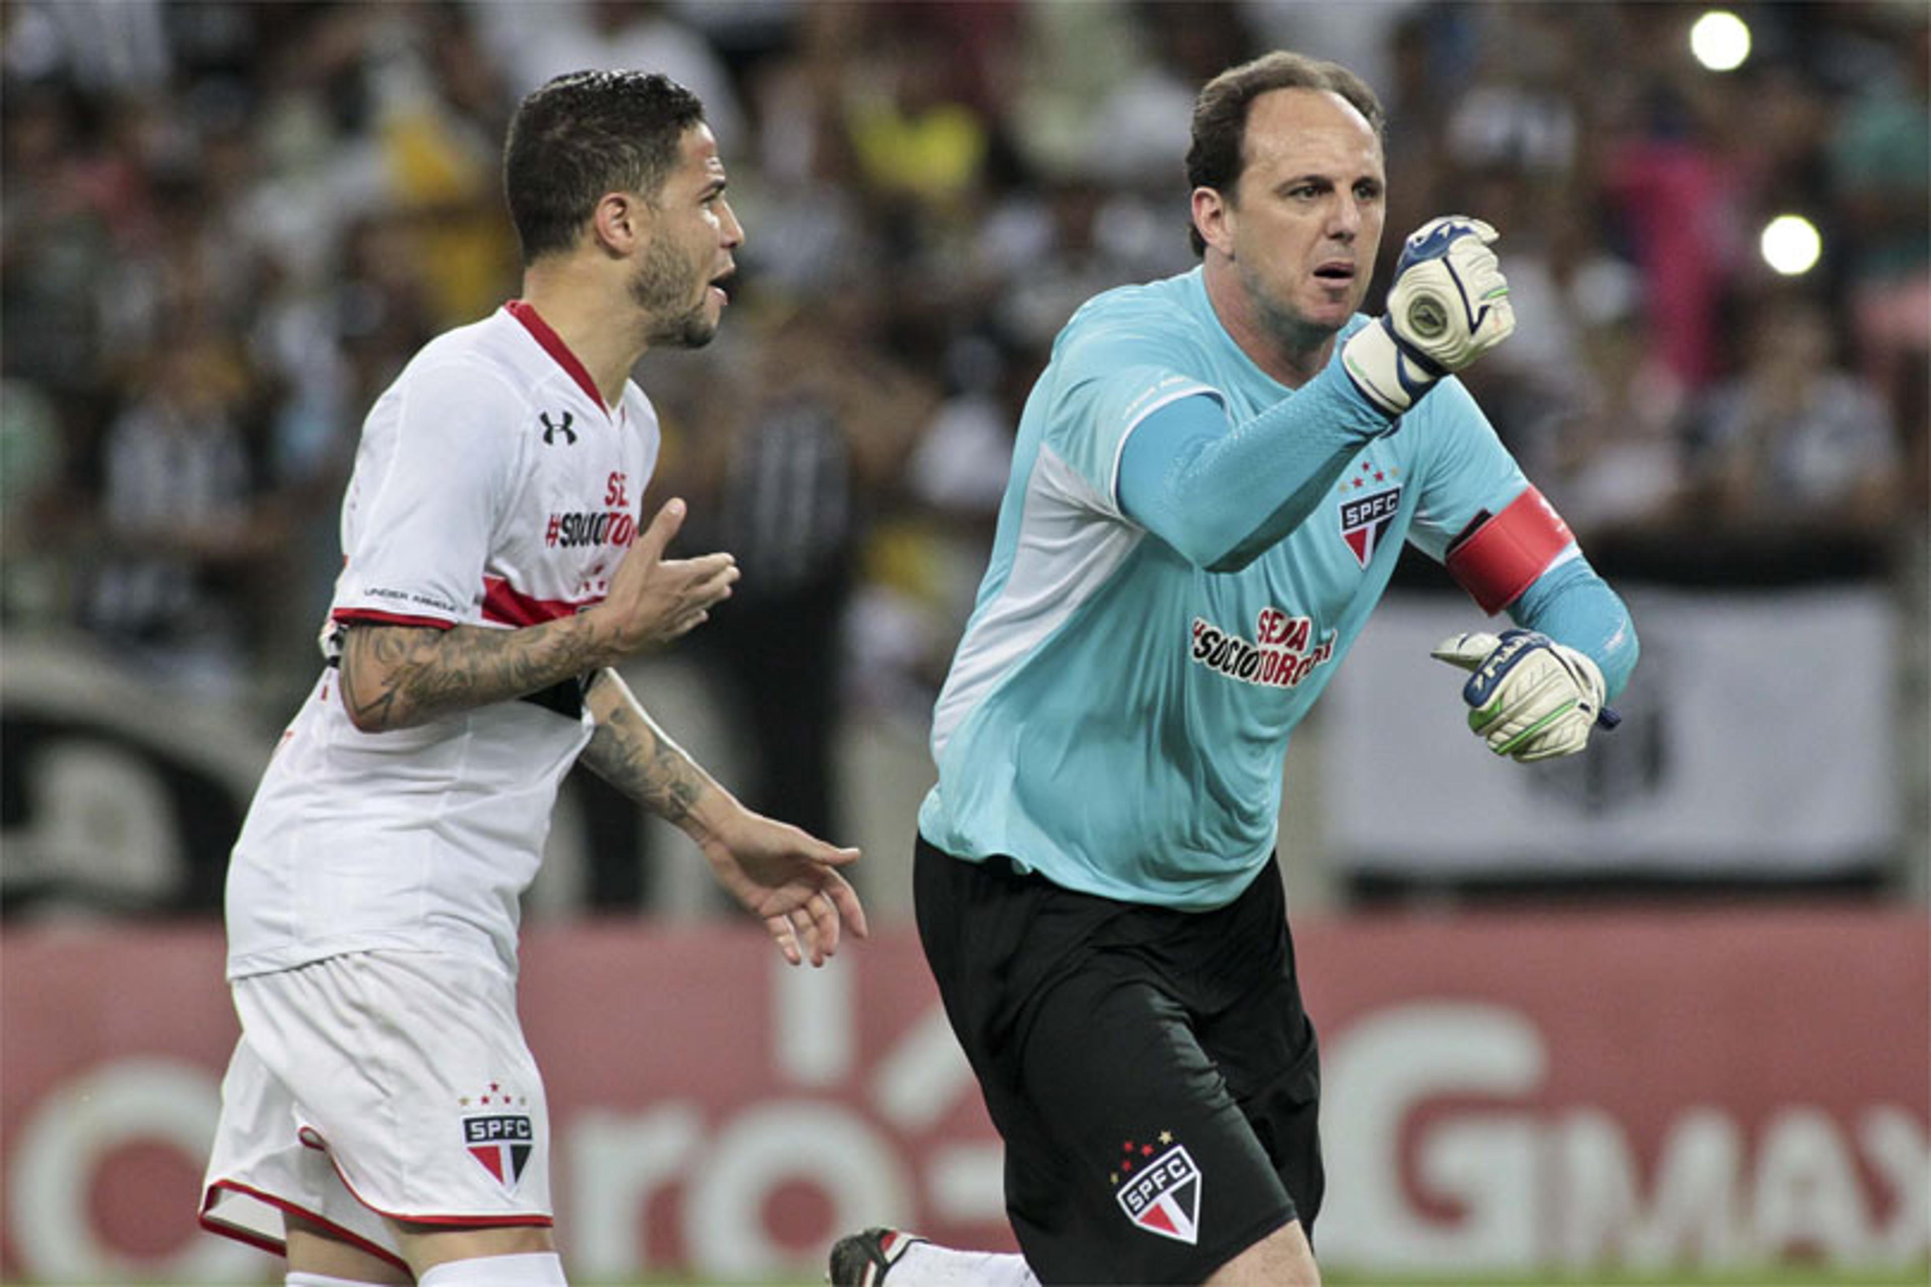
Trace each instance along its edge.
<instances>
[{"instance_id":1,"label":"lower open hand of the white-shirted player, fingers spread","mask_svg":"<svg viewBox=\"0 0 1931 1287\"><path fill-rule=\"evenodd\" d=\"M865 938L865 909L838 868L857 849L828 845L811 834L743 810L728 830L703 837L718 884L765 920L792 965L825 965L846 928Z\"/></svg>"}]
</instances>

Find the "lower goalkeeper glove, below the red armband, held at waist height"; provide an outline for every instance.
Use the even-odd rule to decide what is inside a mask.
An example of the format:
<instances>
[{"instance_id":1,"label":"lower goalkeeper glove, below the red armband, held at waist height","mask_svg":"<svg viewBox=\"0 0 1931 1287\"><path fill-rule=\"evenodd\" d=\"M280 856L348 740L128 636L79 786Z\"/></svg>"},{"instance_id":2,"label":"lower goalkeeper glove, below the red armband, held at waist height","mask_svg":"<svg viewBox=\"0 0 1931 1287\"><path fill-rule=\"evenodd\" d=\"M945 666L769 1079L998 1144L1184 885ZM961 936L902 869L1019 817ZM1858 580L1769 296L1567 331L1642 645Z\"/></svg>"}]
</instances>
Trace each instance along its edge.
<instances>
[{"instance_id":1,"label":"lower goalkeeper glove, below the red armband, held at waist height","mask_svg":"<svg viewBox=\"0 0 1931 1287\"><path fill-rule=\"evenodd\" d=\"M1603 704L1603 671L1585 654L1537 631L1454 635L1431 656L1475 671L1462 685L1468 727L1489 751L1527 764L1576 754L1597 722L1618 716Z\"/></svg>"}]
</instances>

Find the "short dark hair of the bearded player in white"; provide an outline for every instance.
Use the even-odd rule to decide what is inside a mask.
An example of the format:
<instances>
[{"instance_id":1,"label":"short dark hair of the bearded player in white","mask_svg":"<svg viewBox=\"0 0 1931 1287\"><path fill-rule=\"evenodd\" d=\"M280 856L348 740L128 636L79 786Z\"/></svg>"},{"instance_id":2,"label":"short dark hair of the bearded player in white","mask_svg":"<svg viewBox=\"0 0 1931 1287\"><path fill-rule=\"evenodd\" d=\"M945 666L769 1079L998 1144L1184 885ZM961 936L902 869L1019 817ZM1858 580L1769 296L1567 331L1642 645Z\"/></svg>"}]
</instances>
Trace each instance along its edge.
<instances>
[{"instance_id":1,"label":"short dark hair of the bearded player in white","mask_svg":"<svg viewBox=\"0 0 1931 1287\"><path fill-rule=\"evenodd\" d=\"M703 118L697 95L655 71L570 71L533 89L502 149L523 264L575 245L604 193L655 203Z\"/></svg>"}]
</instances>

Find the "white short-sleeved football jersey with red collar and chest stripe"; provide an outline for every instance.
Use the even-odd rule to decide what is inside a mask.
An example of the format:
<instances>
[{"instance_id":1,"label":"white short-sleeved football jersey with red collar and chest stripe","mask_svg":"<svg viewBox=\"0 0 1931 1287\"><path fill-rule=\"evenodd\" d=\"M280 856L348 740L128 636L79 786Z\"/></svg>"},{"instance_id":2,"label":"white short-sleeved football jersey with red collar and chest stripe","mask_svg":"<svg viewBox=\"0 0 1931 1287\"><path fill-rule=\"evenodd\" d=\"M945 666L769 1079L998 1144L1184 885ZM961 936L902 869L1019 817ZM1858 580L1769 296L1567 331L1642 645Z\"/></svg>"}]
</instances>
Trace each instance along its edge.
<instances>
[{"instance_id":1,"label":"white short-sleeved football jersey with red collar and chest stripe","mask_svg":"<svg viewBox=\"0 0 1931 1287\"><path fill-rule=\"evenodd\" d=\"M637 534L658 424L606 409L521 301L452 330L363 423L334 621L516 629L599 602ZM363 733L324 670L282 733L228 868L228 974L375 947L516 971L518 897L589 741L575 685Z\"/></svg>"}]
</instances>

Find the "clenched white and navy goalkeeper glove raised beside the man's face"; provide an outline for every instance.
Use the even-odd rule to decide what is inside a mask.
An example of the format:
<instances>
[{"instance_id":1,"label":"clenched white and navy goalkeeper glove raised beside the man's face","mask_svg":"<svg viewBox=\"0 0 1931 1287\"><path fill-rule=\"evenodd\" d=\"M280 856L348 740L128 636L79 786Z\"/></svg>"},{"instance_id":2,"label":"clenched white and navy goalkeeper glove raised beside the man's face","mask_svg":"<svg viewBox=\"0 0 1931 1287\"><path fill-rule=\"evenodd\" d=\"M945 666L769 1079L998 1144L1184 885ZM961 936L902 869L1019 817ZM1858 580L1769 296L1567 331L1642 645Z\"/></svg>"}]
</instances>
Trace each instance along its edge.
<instances>
[{"instance_id":1,"label":"clenched white and navy goalkeeper glove raised beside the man's face","mask_svg":"<svg viewBox=\"0 0 1931 1287\"><path fill-rule=\"evenodd\" d=\"M1348 338L1342 367L1361 396L1388 415L1408 411L1516 330L1508 280L1479 218L1444 214L1402 243L1388 311Z\"/></svg>"}]
</instances>

